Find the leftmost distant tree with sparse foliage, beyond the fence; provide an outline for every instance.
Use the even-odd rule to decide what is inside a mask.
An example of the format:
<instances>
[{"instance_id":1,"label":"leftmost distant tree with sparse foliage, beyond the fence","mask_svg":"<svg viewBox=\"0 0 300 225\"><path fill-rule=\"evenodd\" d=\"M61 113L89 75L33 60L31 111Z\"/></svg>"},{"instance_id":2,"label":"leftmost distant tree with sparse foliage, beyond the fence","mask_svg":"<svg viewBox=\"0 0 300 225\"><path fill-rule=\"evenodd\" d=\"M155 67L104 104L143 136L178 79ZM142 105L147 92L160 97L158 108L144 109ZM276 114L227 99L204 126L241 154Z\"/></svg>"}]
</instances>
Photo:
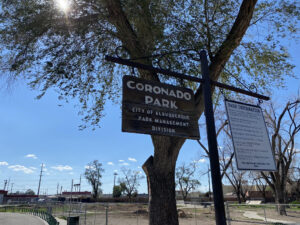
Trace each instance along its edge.
<instances>
[{"instance_id":1,"label":"leftmost distant tree with sparse foliage, beyond the fence","mask_svg":"<svg viewBox=\"0 0 300 225\"><path fill-rule=\"evenodd\" d=\"M93 189L93 198L97 199L99 194L101 193L101 177L104 172L104 169L102 168L102 163L99 163L98 160L94 160L93 162L90 162L87 164L84 176L87 179L87 181L92 185Z\"/></svg>"}]
</instances>

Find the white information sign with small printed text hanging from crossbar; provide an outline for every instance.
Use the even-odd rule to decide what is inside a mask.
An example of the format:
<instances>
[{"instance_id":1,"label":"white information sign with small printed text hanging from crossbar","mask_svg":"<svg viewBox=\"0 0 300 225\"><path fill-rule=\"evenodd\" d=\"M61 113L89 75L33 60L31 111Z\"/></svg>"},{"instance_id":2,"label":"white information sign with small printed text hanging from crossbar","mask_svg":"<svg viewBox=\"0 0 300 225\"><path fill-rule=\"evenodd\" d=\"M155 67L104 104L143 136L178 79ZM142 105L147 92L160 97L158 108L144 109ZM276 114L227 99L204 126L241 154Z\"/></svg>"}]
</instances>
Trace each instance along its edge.
<instances>
[{"instance_id":1,"label":"white information sign with small printed text hanging from crossbar","mask_svg":"<svg viewBox=\"0 0 300 225\"><path fill-rule=\"evenodd\" d=\"M267 127L259 106L225 101L239 170L276 170Z\"/></svg>"}]
</instances>

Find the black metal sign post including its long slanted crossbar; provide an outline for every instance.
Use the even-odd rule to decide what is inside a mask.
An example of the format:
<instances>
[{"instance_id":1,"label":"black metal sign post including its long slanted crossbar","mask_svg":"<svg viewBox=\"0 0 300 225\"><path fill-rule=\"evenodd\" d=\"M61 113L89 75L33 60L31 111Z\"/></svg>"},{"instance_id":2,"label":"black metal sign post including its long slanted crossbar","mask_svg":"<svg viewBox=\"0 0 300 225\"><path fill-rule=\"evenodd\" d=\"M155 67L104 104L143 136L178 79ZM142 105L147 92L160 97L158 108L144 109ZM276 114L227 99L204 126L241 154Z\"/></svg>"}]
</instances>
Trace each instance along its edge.
<instances>
[{"instance_id":1,"label":"black metal sign post including its long slanted crossbar","mask_svg":"<svg viewBox=\"0 0 300 225\"><path fill-rule=\"evenodd\" d=\"M208 146L209 146L209 157L210 157L210 165L211 165L212 184L213 184L216 224L226 225L226 215L225 215L218 145L217 145L216 128L215 128L214 112L213 112L213 104L212 104L211 85L224 88L227 90L231 90L237 93L245 94L248 96L256 97L259 99L263 99L263 100L269 100L270 98L264 95L253 93L251 91L243 90L240 88L236 88L227 84L222 84L217 81L211 80L209 77L207 55L205 50L202 50L200 52L202 78L188 76L170 70L155 68L149 65L133 62L128 59L121 59L118 57L106 56L105 59L107 61L118 63L121 65L131 66L143 70L148 70L154 73L160 73L166 76L176 77L176 78L185 79L185 80L203 84L206 129L207 129L207 138L208 138Z\"/></svg>"}]
</instances>

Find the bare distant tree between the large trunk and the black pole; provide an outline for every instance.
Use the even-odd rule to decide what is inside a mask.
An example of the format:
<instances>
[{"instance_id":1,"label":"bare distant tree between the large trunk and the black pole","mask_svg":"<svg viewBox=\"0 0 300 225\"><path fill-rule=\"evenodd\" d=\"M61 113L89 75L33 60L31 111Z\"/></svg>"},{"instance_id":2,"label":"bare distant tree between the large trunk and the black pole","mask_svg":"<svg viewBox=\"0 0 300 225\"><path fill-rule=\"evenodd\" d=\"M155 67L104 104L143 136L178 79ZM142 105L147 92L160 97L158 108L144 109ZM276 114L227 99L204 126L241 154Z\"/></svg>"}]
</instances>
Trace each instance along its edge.
<instances>
[{"instance_id":1,"label":"bare distant tree between the large trunk and the black pole","mask_svg":"<svg viewBox=\"0 0 300 225\"><path fill-rule=\"evenodd\" d=\"M187 199L188 194L200 185L199 180L195 178L196 171L196 162L189 165L183 163L176 168L176 184L180 188L184 201Z\"/></svg>"}]
</instances>

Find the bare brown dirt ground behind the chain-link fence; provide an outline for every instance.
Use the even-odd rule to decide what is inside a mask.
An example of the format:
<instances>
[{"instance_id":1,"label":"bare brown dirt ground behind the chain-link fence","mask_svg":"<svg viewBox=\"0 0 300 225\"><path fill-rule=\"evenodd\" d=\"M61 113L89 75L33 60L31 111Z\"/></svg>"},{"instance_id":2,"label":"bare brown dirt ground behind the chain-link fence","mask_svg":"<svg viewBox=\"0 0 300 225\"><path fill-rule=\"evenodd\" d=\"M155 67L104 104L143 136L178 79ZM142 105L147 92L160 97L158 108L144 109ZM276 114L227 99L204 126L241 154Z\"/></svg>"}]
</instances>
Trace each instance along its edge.
<instances>
[{"instance_id":1,"label":"bare brown dirt ground behind the chain-link fence","mask_svg":"<svg viewBox=\"0 0 300 225\"><path fill-rule=\"evenodd\" d=\"M80 225L105 225L106 216L108 225L148 225L147 205L145 204L81 204L65 206L63 209L54 209L56 216L80 216ZM180 225L214 225L214 209L212 207L178 205ZM261 207L229 207L231 225L265 224L264 221L249 219L244 216L245 211L255 211L264 217ZM107 212L107 213L106 213ZM287 209L288 216L278 216L275 209L265 209L266 217L284 221L293 221L300 225L300 209Z\"/></svg>"}]
</instances>

